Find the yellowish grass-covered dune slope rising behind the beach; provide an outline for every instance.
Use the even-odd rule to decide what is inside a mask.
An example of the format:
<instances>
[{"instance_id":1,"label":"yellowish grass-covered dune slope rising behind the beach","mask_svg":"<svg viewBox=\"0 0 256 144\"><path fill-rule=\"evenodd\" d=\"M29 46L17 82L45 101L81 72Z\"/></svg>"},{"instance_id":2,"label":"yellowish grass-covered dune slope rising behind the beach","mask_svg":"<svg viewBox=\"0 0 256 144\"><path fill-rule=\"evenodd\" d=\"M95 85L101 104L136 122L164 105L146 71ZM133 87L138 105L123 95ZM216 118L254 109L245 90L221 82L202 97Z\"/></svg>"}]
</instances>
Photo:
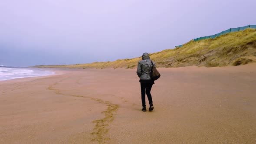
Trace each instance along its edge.
<instances>
[{"instance_id":1,"label":"yellowish grass-covered dune slope rising behind the beach","mask_svg":"<svg viewBox=\"0 0 256 144\"><path fill-rule=\"evenodd\" d=\"M198 59L207 57L206 61ZM256 29L245 29L239 32L227 33L214 39L190 41L180 48L165 49L150 54L158 67L180 66L226 66L243 65L256 62ZM93 62L75 65L36 65L41 68L125 68L134 69L141 57L134 59L118 59L113 62Z\"/></svg>"}]
</instances>

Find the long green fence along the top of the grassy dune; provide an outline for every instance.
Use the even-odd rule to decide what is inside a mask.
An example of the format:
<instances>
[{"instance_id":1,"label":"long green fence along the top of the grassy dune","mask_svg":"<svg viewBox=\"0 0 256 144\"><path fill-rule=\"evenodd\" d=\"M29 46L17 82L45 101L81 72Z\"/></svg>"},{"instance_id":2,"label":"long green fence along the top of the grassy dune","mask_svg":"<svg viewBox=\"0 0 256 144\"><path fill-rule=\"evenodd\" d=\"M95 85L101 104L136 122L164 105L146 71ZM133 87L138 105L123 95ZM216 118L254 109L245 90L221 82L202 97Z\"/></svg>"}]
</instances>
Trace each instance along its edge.
<instances>
[{"instance_id":1,"label":"long green fence along the top of the grassy dune","mask_svg":"<svg viewBox=\"0 0 256 144\"><path fill-rule=\"evenodd\" d=\"M243 26L243 27L237 27L237 28L230 28L230 29L227 29L227 30L224 30L220 33L217 33L215 35L212 35L212 36L203 36L203 37L199 37L199 38L196 38L196 39L193 39L194 41L198 41L198 40L201 40L201 39L214 39L215 37L218 37L220 35L223 35L223 34L226 34L226 33L231 33L231 32L238 32L240 30L244 30L246 28L254 28L256 29L256 25L248 25L248 26ZM179 48L183 45L180 45L180 46L175 46L175 48Z\"/></svg>"}]
</instances>

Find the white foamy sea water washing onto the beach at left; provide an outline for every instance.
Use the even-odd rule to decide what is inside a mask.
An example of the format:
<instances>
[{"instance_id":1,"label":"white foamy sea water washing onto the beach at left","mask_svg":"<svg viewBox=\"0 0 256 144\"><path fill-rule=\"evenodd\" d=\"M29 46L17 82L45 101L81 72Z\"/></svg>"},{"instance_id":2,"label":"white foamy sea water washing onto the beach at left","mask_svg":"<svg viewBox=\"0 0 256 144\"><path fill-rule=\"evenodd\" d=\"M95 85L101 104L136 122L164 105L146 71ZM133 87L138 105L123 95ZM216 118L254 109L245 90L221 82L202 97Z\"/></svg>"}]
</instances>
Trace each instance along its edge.
<instances>
[{"instance_id":1,"label":"white foamy sea water washing onto the beach at left","mask_svg":"<svg viewBox=\"0 0 256 144\"><path fill-rule=\"evenodd\" d=\"M53 75L55 72L44 71L35 68L2 67L0 66L0 81L8 79L19 79L26 77Z\"/></svg>"}]
</instances>

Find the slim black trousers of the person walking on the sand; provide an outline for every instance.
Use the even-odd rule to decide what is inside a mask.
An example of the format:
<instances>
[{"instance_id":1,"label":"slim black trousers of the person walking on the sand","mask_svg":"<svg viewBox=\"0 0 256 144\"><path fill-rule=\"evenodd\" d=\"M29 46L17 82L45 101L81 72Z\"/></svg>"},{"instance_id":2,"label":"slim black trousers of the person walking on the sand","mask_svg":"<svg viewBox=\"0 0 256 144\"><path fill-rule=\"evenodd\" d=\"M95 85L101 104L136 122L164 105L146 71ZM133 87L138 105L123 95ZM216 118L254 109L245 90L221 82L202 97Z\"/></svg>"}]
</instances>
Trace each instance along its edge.
<instances>
[{"instance_id":1,"label":"slim black trousers of the person walking on the sand","mask_svg":"<svg viewBox=\"0 0 256 144\"><path fill-rule=\"evenodd\" d=\"M151 96L151 88L152 88L153 83L142 83L141 82L141 101L142 101L142 106L145 107L146 106L146 94L148 96L148 101L149 104L153 104L152 101L152 96Z\"/></svg>"}]
</instances>

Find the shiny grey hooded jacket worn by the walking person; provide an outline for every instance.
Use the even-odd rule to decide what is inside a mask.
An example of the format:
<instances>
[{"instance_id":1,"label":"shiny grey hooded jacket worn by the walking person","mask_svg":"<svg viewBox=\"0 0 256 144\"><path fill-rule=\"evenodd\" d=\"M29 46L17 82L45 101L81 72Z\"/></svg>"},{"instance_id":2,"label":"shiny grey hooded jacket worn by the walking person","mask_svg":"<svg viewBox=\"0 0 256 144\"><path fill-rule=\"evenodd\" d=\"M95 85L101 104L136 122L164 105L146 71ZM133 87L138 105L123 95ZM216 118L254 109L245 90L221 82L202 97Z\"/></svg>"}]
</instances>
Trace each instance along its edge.
<instances>
[{"instance_id":1,"label":"shiny grey hooded jacket worn by the walking person","mask_svg":"<svg viewBox=\"0 0 256 144\"><path fill-rule=\"evenodd\" d=\"M137 75L141 80L151 80L150 73L152 66L155 67L155 63L151 63L148 53L143 53L142 60L138 62ZM153 80L152 80L153 81ZM153 81L154 82L154 81Z\"/></svg>"}]
</instances>

